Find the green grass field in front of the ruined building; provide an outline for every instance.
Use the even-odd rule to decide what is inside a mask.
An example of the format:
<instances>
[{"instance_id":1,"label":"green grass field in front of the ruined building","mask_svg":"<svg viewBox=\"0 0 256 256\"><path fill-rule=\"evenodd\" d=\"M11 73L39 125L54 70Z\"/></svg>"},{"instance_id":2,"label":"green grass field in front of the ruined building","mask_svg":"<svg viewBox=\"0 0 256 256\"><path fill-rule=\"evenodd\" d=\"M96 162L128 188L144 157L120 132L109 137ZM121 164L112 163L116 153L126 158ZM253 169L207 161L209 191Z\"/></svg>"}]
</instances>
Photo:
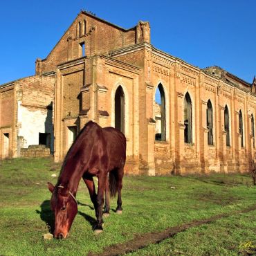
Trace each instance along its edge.
<instances>
[{"instance_id":1,"label":"green grass field in front of the ruined building","mask_svg":"<svg viewBox=\"0 0 256 256\"><path fill-rule=\"evenodd\" d=\"M55 183L60 165L50 158L13 159L0 163L0 255L111 255L113 245L129 252L167 228L198 223L157 244L128 255L248 255L256 251L256 186L246 175L147 177L126 176L123 214L111 211L104 232L93 234L95 213L84 183L77 192L78 213L70 238L44 240L53 223L47 181ZM111 200L116 209L116 199ZM244 210L244 212L241 212ZM246 244L247 243L247 244ZM136 246L134 247L136 248ZM120 254L120 253L119 253Z\"/></svg>"}]
</instances>

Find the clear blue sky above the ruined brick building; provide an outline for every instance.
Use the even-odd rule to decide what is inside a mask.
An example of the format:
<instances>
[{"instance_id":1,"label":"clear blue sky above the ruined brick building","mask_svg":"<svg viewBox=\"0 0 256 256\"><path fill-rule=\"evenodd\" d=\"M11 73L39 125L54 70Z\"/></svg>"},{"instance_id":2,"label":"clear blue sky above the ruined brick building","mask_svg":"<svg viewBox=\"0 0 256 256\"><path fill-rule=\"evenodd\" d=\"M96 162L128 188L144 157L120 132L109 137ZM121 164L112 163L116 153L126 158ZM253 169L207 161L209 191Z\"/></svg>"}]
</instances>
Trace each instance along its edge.
<instances>
[{"instance_id":1,"label":"clear blue sky above the ruined brick building","mask_svg":"<svg viewBox=\"0 0 256 256\"><path fill-rule=\"evenodd\" d=\"M256 1L9 0L0 3L0 84L35 74L81 9L123 28L149 21L152 44L205 68L217 65L252 82Z\"/></svg>"}]
</instances>

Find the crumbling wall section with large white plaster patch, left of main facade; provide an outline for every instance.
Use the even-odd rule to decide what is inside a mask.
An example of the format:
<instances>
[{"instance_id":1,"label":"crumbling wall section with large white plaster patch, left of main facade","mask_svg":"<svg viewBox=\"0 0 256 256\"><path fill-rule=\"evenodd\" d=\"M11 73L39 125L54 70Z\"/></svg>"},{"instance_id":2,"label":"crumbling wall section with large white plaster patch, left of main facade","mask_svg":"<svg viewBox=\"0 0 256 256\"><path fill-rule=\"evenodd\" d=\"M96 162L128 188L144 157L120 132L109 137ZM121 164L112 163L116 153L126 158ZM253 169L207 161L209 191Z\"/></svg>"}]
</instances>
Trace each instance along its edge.
<instances>
[{"instance_id":1,"label":"crumbling wall section with large white plaster patch, left of main facade","mask_svg":"<svg viewBox=\"0 0 256 256\"><path fill-rule=\"evenodd\" d=\"M53 93L55 77L33 76L15 82L17 90L17 154L39 144L39 134L48 134L53 152Z\"/></svg>"}]
</instances>

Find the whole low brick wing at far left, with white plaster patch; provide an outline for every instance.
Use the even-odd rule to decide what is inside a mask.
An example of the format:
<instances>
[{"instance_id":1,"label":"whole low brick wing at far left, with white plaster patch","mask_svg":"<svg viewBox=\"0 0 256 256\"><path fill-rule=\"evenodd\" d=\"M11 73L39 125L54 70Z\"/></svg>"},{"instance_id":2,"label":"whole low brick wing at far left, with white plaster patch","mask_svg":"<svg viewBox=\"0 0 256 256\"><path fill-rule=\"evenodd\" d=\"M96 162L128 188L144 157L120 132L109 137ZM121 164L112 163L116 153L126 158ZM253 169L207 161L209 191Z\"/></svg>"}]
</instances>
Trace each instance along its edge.
<instances>
[{"instance_id":1,"label":"whole low brick wing at far left, with white plaster patch","mask_svg":"<svg viewBox=\"0 0 256 256\"><path fill-rule=\"evenodd\" d=\"M0 86L0 158L23 156L21 149L39 143L53 152L54 84L35 75Z\"/></svg>"}]
</instances>

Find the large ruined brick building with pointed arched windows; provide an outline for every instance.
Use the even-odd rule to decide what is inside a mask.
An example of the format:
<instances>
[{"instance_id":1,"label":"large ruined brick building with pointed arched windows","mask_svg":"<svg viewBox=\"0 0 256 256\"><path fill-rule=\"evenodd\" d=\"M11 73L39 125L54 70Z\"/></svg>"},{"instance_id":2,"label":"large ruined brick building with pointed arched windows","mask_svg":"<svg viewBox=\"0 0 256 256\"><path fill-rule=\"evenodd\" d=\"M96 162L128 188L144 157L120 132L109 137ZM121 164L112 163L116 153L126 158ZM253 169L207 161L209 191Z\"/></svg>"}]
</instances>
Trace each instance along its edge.
<instances>
[{"instance_id":1,"label":"large ruined brick building with pointed arched windows","mask_svg":"<svg viewBox=\"0 0 256 256\"><path fill-rule=\"evenodd\" d=\"M19 91L26 100L25 84L36 99L27 93L27 103L19 103ZM0 156L7 134L9 156L19 156L20 122L41 107L53 120L55 161L94 120L124 132L128 174L245 172L256 158L255 88L256 80L250 84L217 66L201 69L156 49L148 22L126 30L82 11L46 59L37 59L34 77L0 86ZM19 106L28 108L20 119Z\"/></svg>"}]
</instances>

